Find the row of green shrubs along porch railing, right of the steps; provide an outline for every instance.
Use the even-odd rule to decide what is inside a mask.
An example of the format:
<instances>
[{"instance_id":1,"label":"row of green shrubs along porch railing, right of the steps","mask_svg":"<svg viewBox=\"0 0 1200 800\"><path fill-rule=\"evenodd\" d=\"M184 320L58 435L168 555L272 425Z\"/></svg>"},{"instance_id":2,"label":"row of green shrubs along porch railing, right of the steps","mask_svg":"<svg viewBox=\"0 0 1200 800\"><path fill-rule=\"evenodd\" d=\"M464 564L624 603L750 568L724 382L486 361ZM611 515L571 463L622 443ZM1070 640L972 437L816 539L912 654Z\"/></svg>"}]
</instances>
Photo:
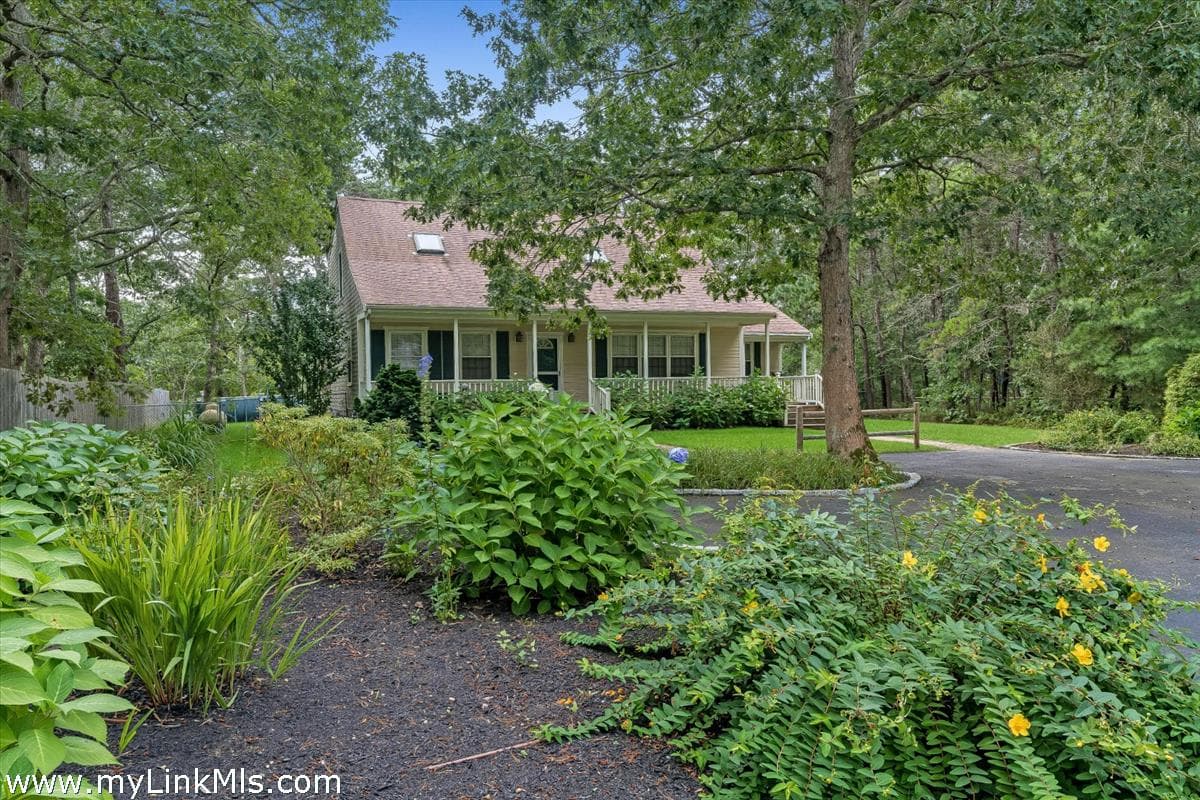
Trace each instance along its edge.
<instances>
[{"instance_id":1,"label":"row of green shrubs along porch railing, right of the steps","mask_svg":"<svg viewBox=\"0 0 1200 800\"><path fill-rule=\"evenodd\" d=\"M670 392L636 377L618 375L600 383L610 390L614 409L653 428L778 426L787 404L779 381L758 374L732 387L706 386L703 375L694 375L676 381Z\"/></svg>"}]
</instances>

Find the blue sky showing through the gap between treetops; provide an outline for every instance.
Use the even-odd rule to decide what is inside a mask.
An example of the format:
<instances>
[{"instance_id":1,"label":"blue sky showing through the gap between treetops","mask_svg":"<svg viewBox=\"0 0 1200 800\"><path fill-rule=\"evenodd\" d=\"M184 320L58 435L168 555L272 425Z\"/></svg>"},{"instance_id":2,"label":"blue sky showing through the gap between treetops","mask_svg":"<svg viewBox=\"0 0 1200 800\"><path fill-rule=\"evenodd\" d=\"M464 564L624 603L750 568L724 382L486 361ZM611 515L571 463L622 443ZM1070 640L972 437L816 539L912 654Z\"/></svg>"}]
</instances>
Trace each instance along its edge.
<instances>
[{"instance_id":1,"label":"blue sky showing through the gap between treetops","mask_svg":"<svg viewBox=\"0 0 1200 800\"><path fill-rule=\"evenodd\" d=\"M487 37L474 35L462 18L462 8L470 6L481 13L499 11L504 7L500 0L392 0L388 5L395 19L391 38L376 47L376 55L420 53L438 90L445 88L446 70L499 79ZM575 116L575 107L569 102L557 103L541 109L538 116L570 119Z\"/></svg>"}]
</instances>

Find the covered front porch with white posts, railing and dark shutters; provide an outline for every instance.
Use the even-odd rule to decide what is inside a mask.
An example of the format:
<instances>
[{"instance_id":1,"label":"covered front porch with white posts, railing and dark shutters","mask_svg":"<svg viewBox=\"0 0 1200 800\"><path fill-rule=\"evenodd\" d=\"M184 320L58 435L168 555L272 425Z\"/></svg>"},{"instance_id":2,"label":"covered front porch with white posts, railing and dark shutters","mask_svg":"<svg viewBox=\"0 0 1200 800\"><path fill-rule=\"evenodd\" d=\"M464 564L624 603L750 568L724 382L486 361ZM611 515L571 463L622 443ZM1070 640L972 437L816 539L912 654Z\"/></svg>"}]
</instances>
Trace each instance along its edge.
<instances>
[{"instance_id":1,"label":"covered front porch with white posts, railing and dark shutters","mask_svg":"<svg viewBox=\"0 0 1200 800\"><path fill-rule=\"evenodd\" d=\"M523 390L533 381L610 410L613 381L650 393L695 386L736 386L751 374L778 380L794 402L821 403L821 377L782 375L782 345L802 349L805 335L773 335L770 319L743 314L612 314L604 335L583 325L563 330L547 320L521 324L470 312L414 313L371 308L354 331L358 397L390 363L416 368L433 357L430 387L438 395ZM794 362L794 359L793 359Z\"/></svg>"}]
</instances>

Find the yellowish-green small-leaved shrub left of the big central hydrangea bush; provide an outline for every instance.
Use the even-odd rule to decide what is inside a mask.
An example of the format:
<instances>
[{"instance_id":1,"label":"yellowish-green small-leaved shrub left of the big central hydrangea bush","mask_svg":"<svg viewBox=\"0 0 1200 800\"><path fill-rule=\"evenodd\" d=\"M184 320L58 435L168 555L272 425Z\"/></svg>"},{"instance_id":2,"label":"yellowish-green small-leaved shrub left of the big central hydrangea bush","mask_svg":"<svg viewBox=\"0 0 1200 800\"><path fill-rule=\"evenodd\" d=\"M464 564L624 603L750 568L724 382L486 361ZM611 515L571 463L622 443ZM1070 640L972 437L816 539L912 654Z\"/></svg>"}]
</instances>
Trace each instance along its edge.
<instances>
[{"instance_id":1,"label":"yellowish-green small-leaved shrub left of the big central hydrangea bush","mask_svg":"<svg viewBox=\"0 0 1200 800\"><path fill-rule=\"evenodd\" d=\"M313 535L383 521L390 495L413 485L414 447L402 420L371 425L268 403L254 429L286 456L264 474L272 500Z\"/></svg>"}]
</instances>

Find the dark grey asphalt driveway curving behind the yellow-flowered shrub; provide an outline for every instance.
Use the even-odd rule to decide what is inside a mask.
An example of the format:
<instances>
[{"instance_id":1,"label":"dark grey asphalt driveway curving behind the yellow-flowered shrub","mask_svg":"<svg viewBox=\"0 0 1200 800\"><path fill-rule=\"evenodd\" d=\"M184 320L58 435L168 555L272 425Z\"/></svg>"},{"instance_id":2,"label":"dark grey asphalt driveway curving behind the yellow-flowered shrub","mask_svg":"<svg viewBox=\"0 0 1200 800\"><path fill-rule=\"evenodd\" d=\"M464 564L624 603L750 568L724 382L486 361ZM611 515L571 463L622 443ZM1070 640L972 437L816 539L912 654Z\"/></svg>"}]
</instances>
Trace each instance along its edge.
<instances>
[{"instance_id":1,"label":"dark grey asphalt driveway curving behind the yellow-flowered shrub","mask_svg":"<svg viewBox=\"0 0 1200 800\"><path fill-rule=\"evenodd\" d=\"M982 495L1003 489L1022 501L1056 500L1067 494L1087 505L1114 505L1138 533L1116 540L1105 563L1141 578L1163 581L1175 597L1200 601L1200 459L1108 458L991 447L888 453L884 458L922 476L918 486L893 495L901 501L920 501L942 488L978 483ZM713 505L712 498L692 500L695 505ZM803 504L832 512L845 509L845 500L838 499ZM714 523L701 519L710 530ZM1079 535L1079 528L1068 527L1055 535L1070 539ZM1176 612L1170 624L1200 640L1200 612Z\"/></svg>"}]
</instances>

